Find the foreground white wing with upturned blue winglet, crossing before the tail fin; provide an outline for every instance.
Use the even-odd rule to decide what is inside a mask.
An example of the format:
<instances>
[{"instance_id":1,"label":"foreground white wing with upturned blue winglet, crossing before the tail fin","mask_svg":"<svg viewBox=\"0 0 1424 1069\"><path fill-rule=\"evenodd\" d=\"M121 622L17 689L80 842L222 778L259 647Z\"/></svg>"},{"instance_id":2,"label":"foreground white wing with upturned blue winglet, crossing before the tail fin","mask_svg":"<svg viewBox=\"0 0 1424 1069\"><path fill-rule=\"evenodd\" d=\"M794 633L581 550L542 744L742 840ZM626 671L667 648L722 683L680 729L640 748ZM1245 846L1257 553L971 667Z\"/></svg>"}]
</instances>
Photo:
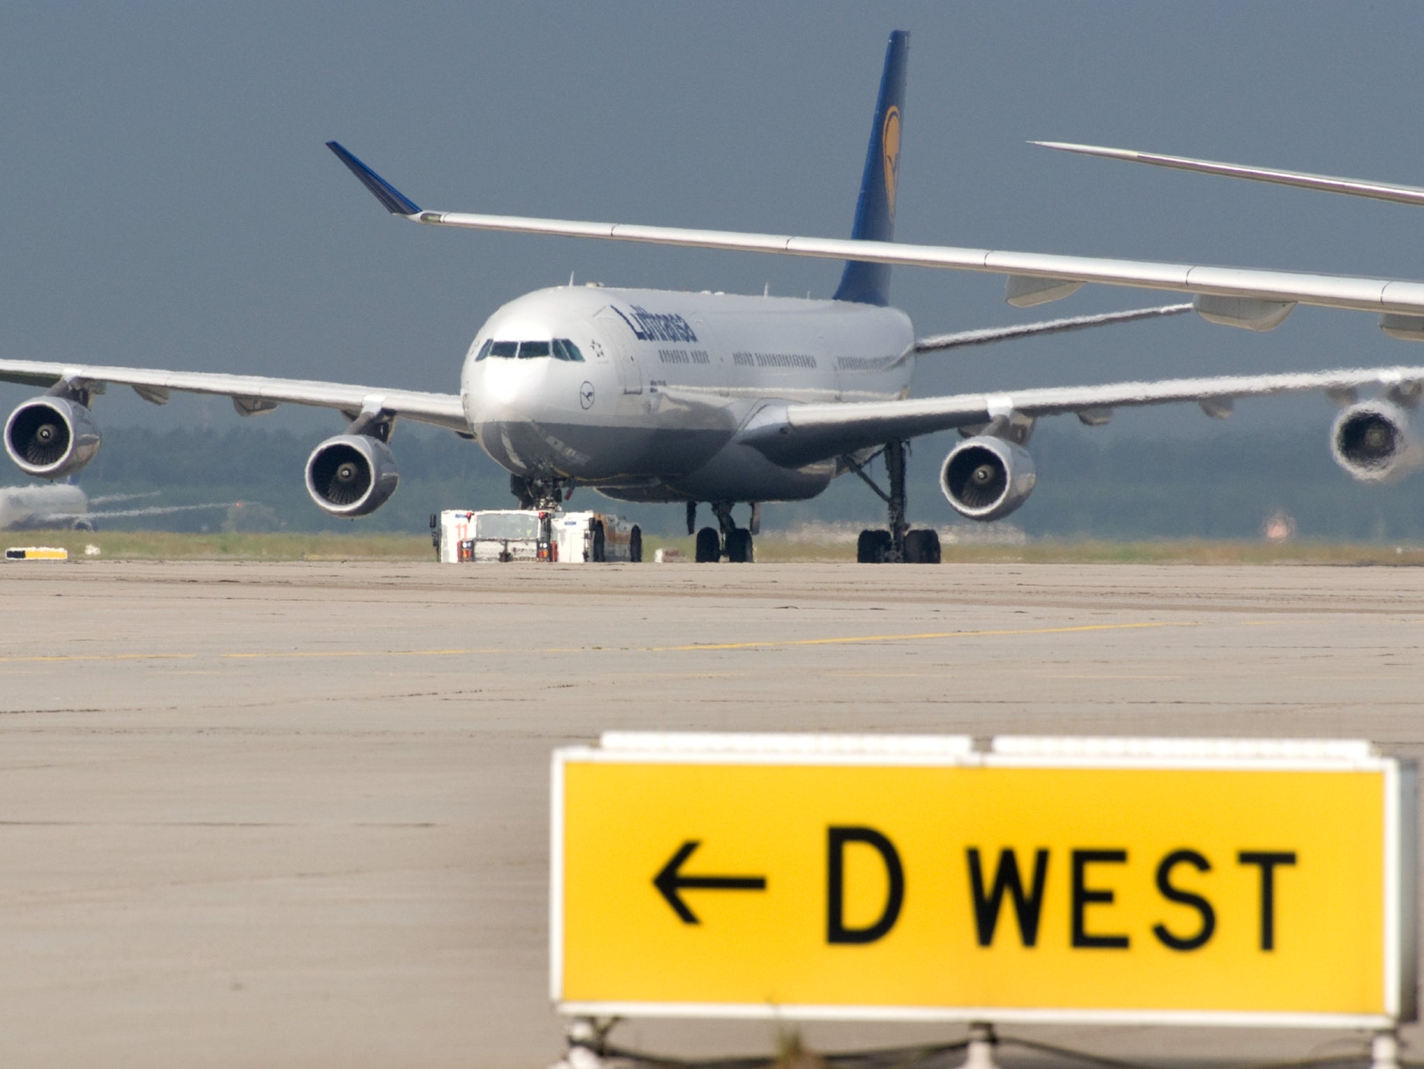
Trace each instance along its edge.
<instances>
[{"instance_id":1,"label":"foreground white wing with upturned blue winglet, crossing before the tail fin","mask_svg":"<svg viewBox=\"0 0 1424 1069\"><path fill-rule=\"evenodd\" d=\"M780 233L740 233L681 226L535 219L515 215L430 212L422 211L410 198L337 142L329 141L328 147L389 212L430 226L548 233L565 238L604 238L701 249L773 252L783 256L1004 275L1007 276L1005 299L1018 307L1067 297L1089 282L1106 286L1172 290L1192 293L1193 306L1203 319L1249 330L1270 330L1279 326L1296 305L1341 307L1380 313L1380 326L1393 337L1424 340L1424 282L1062 256L1045 252L1002 252L954 245L909 245L847 238L797 238Z\"/></svg>"}]
</instances>

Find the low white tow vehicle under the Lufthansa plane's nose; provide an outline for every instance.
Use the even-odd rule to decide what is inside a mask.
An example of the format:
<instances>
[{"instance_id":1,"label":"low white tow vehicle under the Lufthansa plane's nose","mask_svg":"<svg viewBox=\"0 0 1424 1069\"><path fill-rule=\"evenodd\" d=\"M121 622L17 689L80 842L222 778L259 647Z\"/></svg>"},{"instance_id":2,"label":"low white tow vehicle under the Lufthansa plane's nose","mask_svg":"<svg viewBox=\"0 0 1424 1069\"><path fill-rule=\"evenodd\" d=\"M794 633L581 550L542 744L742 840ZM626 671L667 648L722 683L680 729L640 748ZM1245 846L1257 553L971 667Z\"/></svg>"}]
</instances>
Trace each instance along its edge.
<instances>
[{"instance_id":1,"label":"low white tow vehicle under the Lufthansa plane's nose","mask_svg":"<svg viewBox=\"0 0 1424 1069\"><path fill-rule=\"evenodd\" d=\"M608 512L535 508L449 508L430 517L441 564L642 561L642 530Z\"/></svg>"}]
</instances>

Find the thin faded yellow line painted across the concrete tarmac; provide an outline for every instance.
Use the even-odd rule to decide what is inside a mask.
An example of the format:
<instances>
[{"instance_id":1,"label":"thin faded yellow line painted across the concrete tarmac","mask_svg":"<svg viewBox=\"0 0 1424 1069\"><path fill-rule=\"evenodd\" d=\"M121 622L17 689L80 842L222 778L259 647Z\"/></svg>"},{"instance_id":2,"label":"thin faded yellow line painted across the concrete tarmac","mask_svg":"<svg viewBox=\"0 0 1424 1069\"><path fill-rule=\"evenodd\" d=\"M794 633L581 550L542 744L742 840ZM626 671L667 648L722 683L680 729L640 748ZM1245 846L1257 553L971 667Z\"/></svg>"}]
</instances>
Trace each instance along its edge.
<instances>
[{"instance_id":1,"label":"thin faded yellow line painted across the concrete tarmac","mask_svg":"<svg viewBox=\"0 0 1424 1069\"><path fill-rule=\"evenodd\" d=\"M537 648L463 648L463 649L273 649L214 653L221 660L290 660L336 658L454 658L476 655L507 656L510 653L550 655L585 653L696 653L726 649L775 649L789 646L846 646L866 642L924 642L928 639L995 638L1014 635L1074 635L1094 631L1143 631L1152 628L1198 628L1196 621L1145 621L1138 623L1081 623L1068 628L1004 628L985 631L918 631L906 635L837 635L823 639L755 639L750 642L693 642L685 646L557 646ZM33 656L0 658L0 665L46 663L68 660L197 660L204 653L40 653Z\"/></svg>"}]
</instances>

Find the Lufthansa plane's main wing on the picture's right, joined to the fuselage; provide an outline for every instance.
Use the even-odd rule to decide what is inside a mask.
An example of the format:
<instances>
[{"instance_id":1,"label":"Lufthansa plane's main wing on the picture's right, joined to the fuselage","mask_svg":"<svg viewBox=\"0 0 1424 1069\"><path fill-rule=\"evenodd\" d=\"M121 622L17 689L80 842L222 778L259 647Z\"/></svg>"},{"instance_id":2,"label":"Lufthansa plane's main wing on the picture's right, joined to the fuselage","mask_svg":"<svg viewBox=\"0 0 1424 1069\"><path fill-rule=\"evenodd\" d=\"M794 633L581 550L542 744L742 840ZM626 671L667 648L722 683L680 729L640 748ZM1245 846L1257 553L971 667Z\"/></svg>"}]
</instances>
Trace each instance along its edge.
<instances>
[{"instance_id":1,"label":"Lufthansa plane's main wing on the picture's right, joined to the fuselage","mask_svg":"<svg viewBox=\"0 0 1424 1069\"><path fill-rule=\"evenodd\" d=\"M1421 383L1424 367L1370 367L1058 386L900 401L776 403L760 409L742 428L739 440L778 464L796 465L873 448L893 438L983 427L1015 414L1037 418L1074 413L1085 423L1105 423L1119 407L1196 401L1209 416L1225 417L1237 397L1320 390L1336 400L1353 400L1363 386L1383 387L1400 403L1411 404L1418 400Z\"/></svg>"}]
</instances>

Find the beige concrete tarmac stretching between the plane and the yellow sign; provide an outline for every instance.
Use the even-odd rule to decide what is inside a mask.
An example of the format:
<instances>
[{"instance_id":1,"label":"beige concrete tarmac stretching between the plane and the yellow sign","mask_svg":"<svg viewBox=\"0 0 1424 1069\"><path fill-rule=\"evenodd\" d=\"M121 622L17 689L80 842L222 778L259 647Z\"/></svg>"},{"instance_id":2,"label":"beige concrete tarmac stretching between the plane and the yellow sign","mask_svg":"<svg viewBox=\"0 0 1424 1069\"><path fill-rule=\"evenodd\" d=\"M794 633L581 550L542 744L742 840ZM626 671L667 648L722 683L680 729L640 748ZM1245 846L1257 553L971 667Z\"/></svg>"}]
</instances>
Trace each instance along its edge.
<instances>
[{"instance_id":1,"label":"beige concrete tarmac stretching between the plane and the yellow sign","mask_svg":"<svg viewBox=\"0 0 1424 1069\"><path fill-rule=\"evenodd\" d=\"M553 1062L548 754L607 729L1424 754L1408 568L21 562L0 608L6 1066ZM1351 1042L1004 1031L1175 1060ZM693 1055L773 1035L615 1038Z\"/></svg>"}]
</instances>

